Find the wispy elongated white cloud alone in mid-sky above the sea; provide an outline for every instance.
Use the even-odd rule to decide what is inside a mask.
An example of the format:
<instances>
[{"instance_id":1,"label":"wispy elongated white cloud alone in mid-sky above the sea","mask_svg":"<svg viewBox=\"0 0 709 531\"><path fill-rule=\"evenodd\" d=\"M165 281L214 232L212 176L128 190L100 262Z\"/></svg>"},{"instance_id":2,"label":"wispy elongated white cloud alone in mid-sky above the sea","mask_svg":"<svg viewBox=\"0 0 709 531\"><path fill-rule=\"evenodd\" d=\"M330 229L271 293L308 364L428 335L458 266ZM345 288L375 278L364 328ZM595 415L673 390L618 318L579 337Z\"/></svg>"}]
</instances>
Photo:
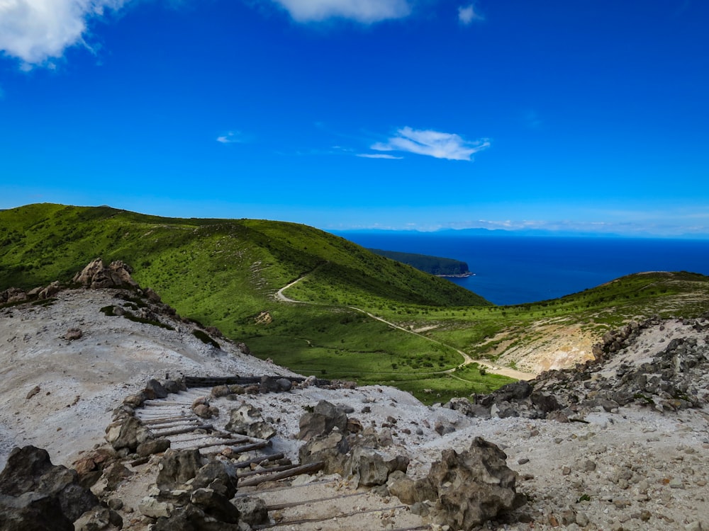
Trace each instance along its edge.
<instances>
[{"instance_id":1,"label":"wispy elongated white cloud alone in mid-sky above the sea","mask_svg":"<svg viewBox=\"0 0 709 531\"><path fill-rule=\"evenodd\" d=\"M436 159L470 161L473 154L490 147L489 139L468 142L452 133L416 130L403 127L386 143L377 142L372 146L379 152L409 152L433 156Z\"/></svg>"}]
</instances>

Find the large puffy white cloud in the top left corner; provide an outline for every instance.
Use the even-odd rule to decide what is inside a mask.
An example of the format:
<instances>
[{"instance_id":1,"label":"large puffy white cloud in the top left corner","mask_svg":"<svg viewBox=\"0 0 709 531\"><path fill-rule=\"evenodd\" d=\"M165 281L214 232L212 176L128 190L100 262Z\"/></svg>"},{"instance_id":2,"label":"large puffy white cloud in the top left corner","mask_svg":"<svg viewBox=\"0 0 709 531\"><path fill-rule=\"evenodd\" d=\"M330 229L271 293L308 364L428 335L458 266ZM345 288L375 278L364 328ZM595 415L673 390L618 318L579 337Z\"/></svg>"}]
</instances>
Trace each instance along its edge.
<instances>
[{"instance_id":1,"label":"large puffy white cloud in the top left corner","mask_svg":"<svg viewBox=\"0 0 709 531\"><path fill-rule=\"evenodd\" d=\"M86 24L130 0L0 0L0 52L21 59L23 69L62 57L82 44Z\"/></svg>"}]
</instances>

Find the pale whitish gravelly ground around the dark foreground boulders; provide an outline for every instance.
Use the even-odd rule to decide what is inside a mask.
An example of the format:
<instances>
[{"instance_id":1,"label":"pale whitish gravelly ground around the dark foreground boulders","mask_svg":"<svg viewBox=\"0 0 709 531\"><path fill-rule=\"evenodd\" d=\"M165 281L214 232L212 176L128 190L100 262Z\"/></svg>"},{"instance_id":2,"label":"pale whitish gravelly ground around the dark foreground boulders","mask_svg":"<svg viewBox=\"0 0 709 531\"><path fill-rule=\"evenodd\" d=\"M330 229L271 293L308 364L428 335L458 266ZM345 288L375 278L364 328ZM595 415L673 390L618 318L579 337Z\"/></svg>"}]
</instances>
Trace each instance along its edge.
<instances>
[{"instance_id":1,"label":"pale whitish gravelly ground around the dark foreground boulders","mask_svg":"<svg viewBox=\"0 0 709 531\"><path fill-rule=\"evenodd\" d=\"M291 375L244 355L226 341L220 340L221 350L206 346L191 334L188 324L171 323L177 331L168 331L99 311L120 302L113 290L70 290L60 292L48 307L23 304L0 310L0 467L12 447L29 444L46 448L55 463L72 464L83 450L104 442L111 411L123 397L143 389L151 377ZM63 336L74 327L83 336L67 341ZM622 355L642 362L666 346L661 339L688 334L707 346L706 332L674 322L664 327L644 331ZM40 391L27 398L35 387ZM299 445L298 419L306 406L320 399L352 407L350 416L365 427L381 430L382 424L396 419L389 428L393 445L387 451L411 457L413 476L425 474L442 449L467 449L476 436L503 448L508 466L520 474L518 491L530 499L519 512L528 521L495 523L489 528L709 530L706 404L703 409L677 413L635 406L607 413L599 408L586 415L588 423L557 423L468 418L440 406L423 406L411 395L380 386L310 387L247 397L264 417L274 419L279 430L274 450L293 457ZM225 401L213 404L228 411ZM364 408L369 411L363 412ZM220 421L225 420L222 413ZM437 423L454 431L441 436L434 429ZM143 492L139 479L136 474L119 491L126 506ZM325 521L312 528L384 529L386 525L391 527L389 520L378 515L355 523ZM130 528L144 527L135 519Z\"/></svg>"}]
</instances>

